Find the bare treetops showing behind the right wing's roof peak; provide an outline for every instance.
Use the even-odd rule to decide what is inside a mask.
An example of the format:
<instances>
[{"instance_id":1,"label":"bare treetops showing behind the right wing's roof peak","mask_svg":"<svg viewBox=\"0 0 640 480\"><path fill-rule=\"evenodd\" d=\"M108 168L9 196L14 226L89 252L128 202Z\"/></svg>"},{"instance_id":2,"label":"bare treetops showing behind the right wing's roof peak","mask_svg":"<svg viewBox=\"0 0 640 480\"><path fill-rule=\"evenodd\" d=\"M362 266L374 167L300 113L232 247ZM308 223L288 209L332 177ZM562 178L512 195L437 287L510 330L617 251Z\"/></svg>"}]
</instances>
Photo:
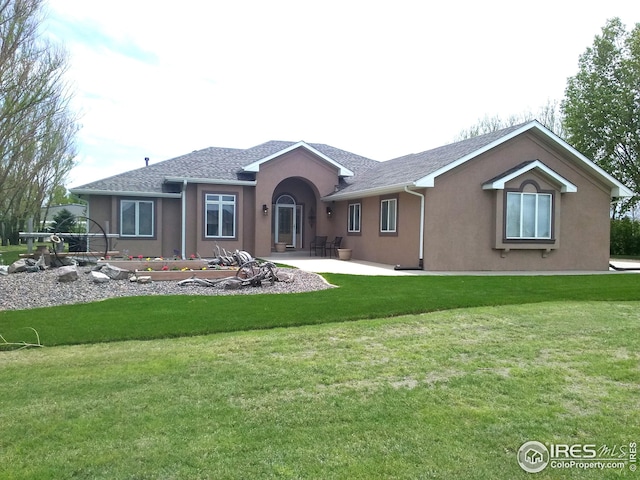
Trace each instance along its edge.
<instances>
[{"instance_id":1,"label":"bare treetops showing behind the right wing's roof peak","mask_svg":"<svg viewBox=\"0 0 640 480\"><path fill-rule=\"evenodd\" d=\"M510 115L502 118L499 115L490 117L485 115L479 119L475 125L462 130L455 138L456 141L465 140L467 138L477 137L486 133L502 130L503 128L512 127L519 123L526 123L531 120L538 120L541 124L554 132L559 137L564 135L562 127L562 118L560 115L560 105L557 101L549 100L546 105L540 107L537 112L527 111L518 115Z\"/></svg>"}]
</instances>

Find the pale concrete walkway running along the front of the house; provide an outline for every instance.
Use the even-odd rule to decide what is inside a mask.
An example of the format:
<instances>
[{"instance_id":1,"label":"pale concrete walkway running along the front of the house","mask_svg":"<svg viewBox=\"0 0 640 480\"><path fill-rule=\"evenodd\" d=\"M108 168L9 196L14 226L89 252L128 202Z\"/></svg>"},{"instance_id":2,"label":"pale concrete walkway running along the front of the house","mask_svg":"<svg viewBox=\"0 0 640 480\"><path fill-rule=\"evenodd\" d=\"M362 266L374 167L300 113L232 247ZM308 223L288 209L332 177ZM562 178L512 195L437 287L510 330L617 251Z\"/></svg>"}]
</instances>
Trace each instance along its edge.
<instances>
[{"instance_id":1,"label":"pale concrete walkway running along the front of the house","mask_svg":"<svg viewBox=\"0 0 640 480\"><path fill-rule=\"evenodd\" d=\"M335 258L313 257L303 252L272 252L271 256L264 257L274 263L282 263L291 265L292 267L305 270L307 272L316 273L344 273L347 275L603 275L603 274L623 274L623 273L640 273L640 261L629 260L612 260L611 263L618 268L637 268L639 270L632 271L546 271L546 272L530 272L530 271L481 271L481 272L433 272L428 270L395 270L394 265L386 265L382 263L365 262L363 260L338 260Z\"/></svg>"}]
</instances>

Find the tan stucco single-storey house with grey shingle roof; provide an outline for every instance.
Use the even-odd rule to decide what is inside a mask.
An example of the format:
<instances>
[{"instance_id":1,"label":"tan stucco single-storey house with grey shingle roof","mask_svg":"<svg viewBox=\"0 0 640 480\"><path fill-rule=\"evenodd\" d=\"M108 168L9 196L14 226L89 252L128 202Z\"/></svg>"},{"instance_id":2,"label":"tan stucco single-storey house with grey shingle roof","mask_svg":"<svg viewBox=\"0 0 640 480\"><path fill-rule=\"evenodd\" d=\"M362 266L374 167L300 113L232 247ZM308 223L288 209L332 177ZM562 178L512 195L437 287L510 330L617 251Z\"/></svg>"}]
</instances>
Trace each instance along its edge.
<instances>
[{"instance_id":1,"label":"tan stucco single-storey house with grey shingle roof","mask_svg":"<svg viewBox=\"0 0 640 480\"><path fill-rule=\"evenodd\" d=\"M324 144L211 147L71 190L132 255L271 254L343 237L353 258L460 270L606 270L633 193L533 121L379 162Z\"/></svg>"}]
</instances>

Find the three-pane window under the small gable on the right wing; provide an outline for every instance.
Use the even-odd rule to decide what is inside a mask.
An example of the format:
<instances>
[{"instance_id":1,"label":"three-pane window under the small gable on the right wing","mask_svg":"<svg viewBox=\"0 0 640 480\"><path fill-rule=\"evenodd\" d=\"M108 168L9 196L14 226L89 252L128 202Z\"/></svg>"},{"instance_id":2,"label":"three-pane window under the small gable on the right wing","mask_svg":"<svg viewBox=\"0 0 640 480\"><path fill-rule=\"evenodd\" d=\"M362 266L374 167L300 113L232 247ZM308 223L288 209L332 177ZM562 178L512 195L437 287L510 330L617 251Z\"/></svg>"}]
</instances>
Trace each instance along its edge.
<instances>
[{"instance_id":1,"label":"three-pane window under the small gable on the right wing","mask_svg":"<svg viewBox=\"0 0 640 480\"><path fill-rule=\"evenodd\" d=\"M548 240L551 238L550 193L507 193L506 238Z\"/></svg>"}]
</instances>

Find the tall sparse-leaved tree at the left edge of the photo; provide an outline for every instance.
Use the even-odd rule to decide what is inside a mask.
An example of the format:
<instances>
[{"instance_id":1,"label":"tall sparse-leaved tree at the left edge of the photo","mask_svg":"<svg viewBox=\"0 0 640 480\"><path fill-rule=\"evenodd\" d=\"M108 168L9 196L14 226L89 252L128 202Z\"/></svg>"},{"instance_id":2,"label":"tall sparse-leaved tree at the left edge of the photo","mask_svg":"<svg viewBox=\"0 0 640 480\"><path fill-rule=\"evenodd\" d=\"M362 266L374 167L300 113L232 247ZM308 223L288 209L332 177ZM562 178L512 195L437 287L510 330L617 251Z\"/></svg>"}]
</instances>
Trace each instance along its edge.
<instances>
[{"instance_id":1,"label":"tall sparse-leaved tree at the left edge of the photo","mask_svg":"<svg viewBox=\"0 0 640 480\"><path fill-rule=\"evenodd\" d=\"M73 167L65 54L38 31L43 0L0 0L0 224L12 243Z\"/></svg>"}]
</instances>

